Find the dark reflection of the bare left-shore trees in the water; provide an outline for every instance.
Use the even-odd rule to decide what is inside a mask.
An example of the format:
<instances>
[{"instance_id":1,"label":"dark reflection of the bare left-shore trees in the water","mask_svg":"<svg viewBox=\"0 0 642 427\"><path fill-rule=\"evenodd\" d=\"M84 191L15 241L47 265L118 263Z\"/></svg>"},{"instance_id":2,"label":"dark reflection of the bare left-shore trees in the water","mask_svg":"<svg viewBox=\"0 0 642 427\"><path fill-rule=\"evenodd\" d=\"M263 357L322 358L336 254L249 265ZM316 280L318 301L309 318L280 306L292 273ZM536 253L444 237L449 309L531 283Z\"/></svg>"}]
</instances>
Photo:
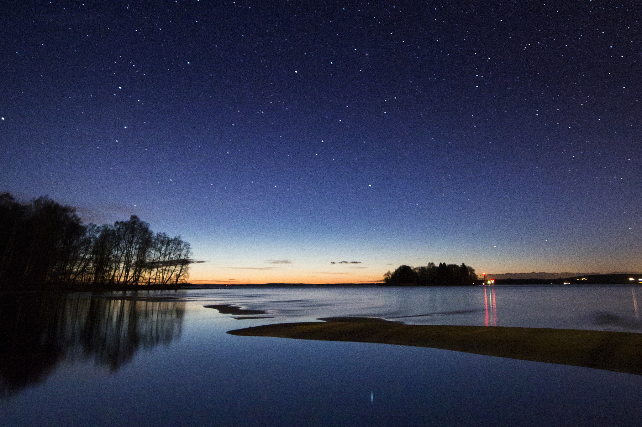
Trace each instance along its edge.
<instances>
[{"instance_id":1,"label":"dark reflection of the bare left-shore trees in the water","mask_svg":"<svg viewBox=\"0 0 642 427\"><path fill-rule=\"evenodd\" d=\"M116 371L141 350L180 337L184 302L21 294L0 300L0 397L46 380L66 357Z\"/></svg>"}]
</instances>

